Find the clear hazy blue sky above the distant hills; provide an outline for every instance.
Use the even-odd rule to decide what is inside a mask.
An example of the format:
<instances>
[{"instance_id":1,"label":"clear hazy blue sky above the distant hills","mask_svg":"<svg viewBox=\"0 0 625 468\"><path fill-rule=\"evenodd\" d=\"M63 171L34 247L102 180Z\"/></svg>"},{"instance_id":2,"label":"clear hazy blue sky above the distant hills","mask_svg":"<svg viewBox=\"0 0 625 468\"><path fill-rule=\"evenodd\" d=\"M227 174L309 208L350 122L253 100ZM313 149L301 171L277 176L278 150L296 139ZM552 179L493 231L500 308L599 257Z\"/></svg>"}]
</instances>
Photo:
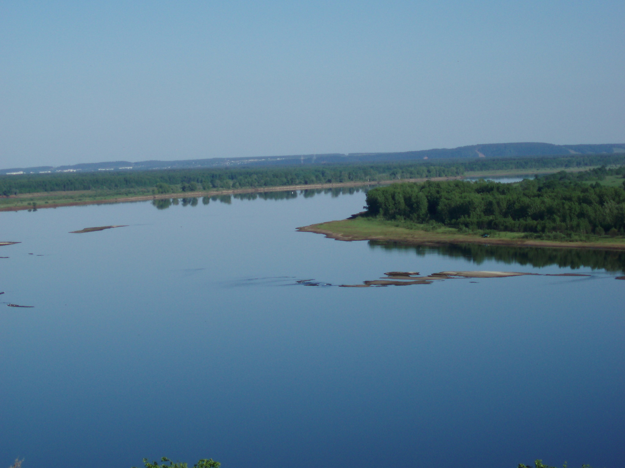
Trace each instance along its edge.
<instances>
[{"instance_id":1,"label":"clear hazy blue sky above the distant hills","mask_svg":"<svg viewBox=\"0 0 625 468\"><path fill-rule=\"evenodd\" d=\"M0 167L625 142L625 2L0 1Z\"/></svg>"}]
</instances>

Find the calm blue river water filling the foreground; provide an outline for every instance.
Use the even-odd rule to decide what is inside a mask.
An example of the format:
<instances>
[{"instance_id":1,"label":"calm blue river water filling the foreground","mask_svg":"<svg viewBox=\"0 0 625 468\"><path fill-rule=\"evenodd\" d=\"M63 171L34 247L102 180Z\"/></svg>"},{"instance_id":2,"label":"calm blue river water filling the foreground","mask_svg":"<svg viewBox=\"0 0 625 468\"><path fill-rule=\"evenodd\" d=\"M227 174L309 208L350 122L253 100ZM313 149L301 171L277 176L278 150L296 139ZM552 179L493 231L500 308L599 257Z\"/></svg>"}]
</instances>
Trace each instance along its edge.
<instances>
[{"instance_id":1,"label":"calm blue river water filling the foreground","mask_svg":"<svg viewBox=\"0 0 625 468\"><path fill-rule=\"evenodd\" d=\"M356 192L0 213L0 240L22 242L0 247L0 301L34 306L0 304L0 463L625 466L623 273L294 230L363 205ZM591 276L296 283L397 270Z\"/></svg>"}]
</instances>

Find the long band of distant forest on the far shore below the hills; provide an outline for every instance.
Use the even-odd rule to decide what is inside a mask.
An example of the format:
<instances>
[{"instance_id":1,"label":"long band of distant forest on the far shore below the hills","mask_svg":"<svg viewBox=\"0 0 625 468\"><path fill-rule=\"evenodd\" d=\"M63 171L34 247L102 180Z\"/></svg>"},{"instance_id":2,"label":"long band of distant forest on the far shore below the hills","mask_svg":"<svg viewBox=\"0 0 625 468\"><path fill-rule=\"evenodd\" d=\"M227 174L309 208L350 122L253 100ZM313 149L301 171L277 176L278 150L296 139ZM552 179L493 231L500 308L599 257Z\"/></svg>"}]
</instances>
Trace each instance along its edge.
<instances>
[{"instance_id":1,"label":"long band of distant forest on the far shore below the hills","mask_svg":"<svg viewBox=\"0 0 625 468\"><path fill-rule=\"evenodd\" d=\"M209 168L50 173L0 176L0 195L77 190L150 190L153 193L195 192L230 188L280 187L317 183L376 182L399 178L449 177L468 171L528 170L594 165L622 165L625 155L502 158L430 163L389 162L271 168Z\"/></svg>"}]
</instances>

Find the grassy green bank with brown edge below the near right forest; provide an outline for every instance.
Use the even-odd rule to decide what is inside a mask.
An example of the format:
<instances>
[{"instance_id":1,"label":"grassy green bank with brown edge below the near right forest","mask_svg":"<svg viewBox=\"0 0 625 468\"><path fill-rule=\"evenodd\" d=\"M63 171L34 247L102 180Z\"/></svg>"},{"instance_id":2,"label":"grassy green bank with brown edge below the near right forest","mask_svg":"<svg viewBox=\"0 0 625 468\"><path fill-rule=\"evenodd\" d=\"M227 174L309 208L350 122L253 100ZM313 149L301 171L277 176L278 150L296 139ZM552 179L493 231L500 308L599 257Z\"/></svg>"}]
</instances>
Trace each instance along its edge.
<instances>
[{"instance_id":1,"label":"grassy green bank with brown edge below the near right forest","mask_svg":"<svg viewBox=\"0 0 625 468\"><path fill-rule=\"evenodd\" d=\"M455 228L418 230L402 227L401 223L361 216L346 220L317 223L297 228L299 232L323 234L327 238L354 241L372 240L394 242L404 245L487 244L556 248L591 248L601 250L625 250L625 238L596 236L592 241L549 241L524 239L523 233L497 232L484 238L476 233L460 233Z\"/></svg>"}]
</instances>

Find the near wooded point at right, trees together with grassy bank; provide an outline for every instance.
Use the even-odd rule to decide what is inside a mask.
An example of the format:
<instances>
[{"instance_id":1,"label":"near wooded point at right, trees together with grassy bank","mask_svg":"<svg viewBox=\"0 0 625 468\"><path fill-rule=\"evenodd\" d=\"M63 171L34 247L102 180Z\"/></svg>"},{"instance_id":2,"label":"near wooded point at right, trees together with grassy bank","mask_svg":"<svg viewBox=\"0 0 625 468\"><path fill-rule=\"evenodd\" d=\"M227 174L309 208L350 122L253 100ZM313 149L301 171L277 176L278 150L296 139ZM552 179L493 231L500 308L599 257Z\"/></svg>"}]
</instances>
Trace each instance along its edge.
<instances>
[{"instance_id":1,"label":"near wooded point at right, trees together with grassy bank","mask_svg":"<svg viewBox=\"0 0 625 468\"><path fill-rule=\"evenodd\" d=\"M366 212L351 220L300 229L339 240L620 250L625 249L624 176L621 166L517 183L396 183L369 190ZM601 183L606 180L611 183Z\"/></svg>"}]
</instances>

